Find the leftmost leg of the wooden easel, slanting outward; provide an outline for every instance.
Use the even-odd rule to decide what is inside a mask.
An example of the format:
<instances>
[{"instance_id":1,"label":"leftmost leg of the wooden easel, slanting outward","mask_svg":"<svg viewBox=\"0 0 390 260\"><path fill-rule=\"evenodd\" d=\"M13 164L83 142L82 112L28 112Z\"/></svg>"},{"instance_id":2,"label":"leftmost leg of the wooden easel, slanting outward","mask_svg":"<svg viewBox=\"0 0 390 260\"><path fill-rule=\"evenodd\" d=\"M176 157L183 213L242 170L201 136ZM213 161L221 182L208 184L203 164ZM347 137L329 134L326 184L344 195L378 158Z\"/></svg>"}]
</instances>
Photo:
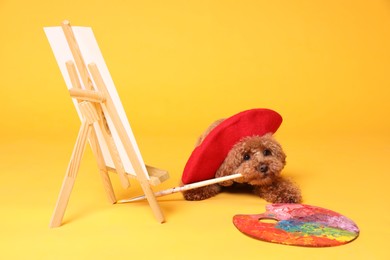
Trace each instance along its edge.
<instances>
[{"instance_id":1,"label":"leftmost leg of the wooden easel, slanting outward","mask_svg":"<svg viewBox=\"0 0 390 260\"><path fill-rule=\"evenodd\" d=\"M74 182L76 180L77 172L80 168L81 158L83 157L86 142L91 132L92 126L85 121L80 127L77 141L73 149L72 157L66 171L64 182L60 195L58 196L57 204L54 209L52 219L50 221L50 227L58 227L61 225L62 219L65 214L66 206L68 205L70 193L72 192Z\"/></svg>"}]
</instances>

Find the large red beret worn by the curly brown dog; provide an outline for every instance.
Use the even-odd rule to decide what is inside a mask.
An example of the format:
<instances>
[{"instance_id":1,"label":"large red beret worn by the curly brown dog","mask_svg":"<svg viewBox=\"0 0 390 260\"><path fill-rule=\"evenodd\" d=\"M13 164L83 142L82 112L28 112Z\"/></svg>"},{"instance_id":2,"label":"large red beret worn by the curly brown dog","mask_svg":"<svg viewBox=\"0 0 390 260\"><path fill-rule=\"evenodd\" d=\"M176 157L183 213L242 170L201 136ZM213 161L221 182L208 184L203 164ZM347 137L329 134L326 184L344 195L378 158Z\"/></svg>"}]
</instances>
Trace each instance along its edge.
<instances>
[{"instance_id":1,"label":"large red beret worn by the curly brown dog","mask_svg":"<svg viewBox=\"0 0 390 260\"><path fill-rule=\"evenodd\" d=\"M182 182L213 179L238 141L246 136L275 133L281 123L282 117L270 109L246 110L225 119L194 149L184 167Z\"/></svg>"}]
</instances>

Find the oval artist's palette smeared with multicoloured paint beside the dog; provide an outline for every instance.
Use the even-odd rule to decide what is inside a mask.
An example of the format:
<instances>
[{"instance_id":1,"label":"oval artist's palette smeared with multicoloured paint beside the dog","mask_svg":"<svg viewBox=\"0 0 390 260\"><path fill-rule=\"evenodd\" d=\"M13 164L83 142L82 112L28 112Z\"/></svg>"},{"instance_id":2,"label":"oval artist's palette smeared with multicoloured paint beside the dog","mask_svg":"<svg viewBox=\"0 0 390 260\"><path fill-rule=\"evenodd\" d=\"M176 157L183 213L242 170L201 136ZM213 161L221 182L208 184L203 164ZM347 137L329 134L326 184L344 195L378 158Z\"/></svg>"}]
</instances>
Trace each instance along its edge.
<instances>
[{"instance_id":1,"label":"oval artist's palette smeared with multicoloured paint beside the dog","mask_svg":"<svg viewBox=\"0 0 390 260\"><path fill-rule=\"evenodd\" d=\"M339 246L359 236L351 219L304 204L269 204L263 214L235 215L233 223L250 237L284 245Z\"/></svg>"}]
</instances>

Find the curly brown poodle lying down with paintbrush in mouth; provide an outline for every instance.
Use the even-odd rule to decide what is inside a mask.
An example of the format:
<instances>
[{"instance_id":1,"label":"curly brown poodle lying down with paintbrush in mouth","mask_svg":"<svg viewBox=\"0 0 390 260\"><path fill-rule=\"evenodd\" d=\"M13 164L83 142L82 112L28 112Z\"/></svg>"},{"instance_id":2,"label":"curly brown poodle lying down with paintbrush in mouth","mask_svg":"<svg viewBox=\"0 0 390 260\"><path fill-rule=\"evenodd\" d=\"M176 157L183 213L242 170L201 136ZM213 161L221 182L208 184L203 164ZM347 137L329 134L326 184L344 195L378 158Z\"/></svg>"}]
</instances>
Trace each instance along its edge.
<instances>
[{"instance_id":1,"label":"curly brown poodle lying down with paintbrush in mouth","mask_svg":"<svg viewBox=\"0 0 390 260\"><path fill-rule=\"evenodd\" d=\"M197 141L203 139L223 119L214 122ZM215 177L241 173L238 179L212 184L183 192L186 200L204 200L221 192L222 187L249 186L252 191L271 203L300 203L300 189L281 176L286 164L286 155L272 134L244 137L229 151Z\"/></svg>"}]
</instances>

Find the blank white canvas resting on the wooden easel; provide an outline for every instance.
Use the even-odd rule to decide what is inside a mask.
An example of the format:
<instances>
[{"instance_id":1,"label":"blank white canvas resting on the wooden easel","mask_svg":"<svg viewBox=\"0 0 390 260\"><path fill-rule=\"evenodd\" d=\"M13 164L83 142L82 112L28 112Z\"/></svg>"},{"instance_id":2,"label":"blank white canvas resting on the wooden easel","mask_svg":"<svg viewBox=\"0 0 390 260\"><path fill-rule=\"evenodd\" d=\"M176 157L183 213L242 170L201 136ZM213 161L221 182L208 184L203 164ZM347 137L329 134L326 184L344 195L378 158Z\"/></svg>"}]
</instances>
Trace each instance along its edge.
<instances>
[{"instance_id":1,"label":"blank white canvas resting on the wooden easel","mask_svg":"<svg viewBox=\"0 0 390 260\"><path fill-rule=\"evenodd\" d=\"M130 123L127 119L126 113L123 109L122 103L120 101L119 95L116 91L114 82L112 81L111 75L108 71L107 65L104 62L102 53L100 52L99 46L96 42L95 36L93 34L93 31L90 27L78 27L78 26L72 26L74 36L76 38L76 41L79 45L81 54L83 56L83 59L86 64L95 63L100 71L100 74L104 80L104 83L106 84L107 90L114 102L115 108L119 114L119 117L122 121L122 124L124 128L126 129L127 135L130 138L130 141L133 145L133 148L136 152L137 158L140 162L140 164L143 167L143 172L146 176L146 178L149 180L149 174L146 170L145 163L143 162L141 152L138 148L137 142L135 140L133 131L131 130ZM66 69L66 62L67 61L74 61L72 52L69 48L68 42L66 41L65 34L62 30L62 27L45 27L44 31L46 33L46 36L49 40L50 46L53 50L54 56L57 60L58 66L60 67L62 76L64 77L66 86L68 89L72 88L72 83L68 74L68 71ZM75 63L76 64L76 63ZM92 77L91 77L92 79ZM81 84L83 84L81 82ZM82 86L84 88L84 86ZM79 114L80 119L82 119L82 115L78 109L77 100L73 99L73 103L76 107L76 110ZM107 113L105 109L103 109L103 112L106 116L107 123L110 127L112 136L114 138L114 142L117 146L119 156L122 160L123 166L125 168L126 173L135 175L133 166L127 156L127 153L125 151L125 148L119 138L119 135L117 133L117 130L115 129L112 120ZM104 160L106 162L106 165L111 168L115 168L113 160L110 156L108 146L104 140L103 134L100 131L100 128L97 127L98 124L95 123L94 127L98 136L98 141L100 148L103 152Z\"/></svg>"}]
</instances>

